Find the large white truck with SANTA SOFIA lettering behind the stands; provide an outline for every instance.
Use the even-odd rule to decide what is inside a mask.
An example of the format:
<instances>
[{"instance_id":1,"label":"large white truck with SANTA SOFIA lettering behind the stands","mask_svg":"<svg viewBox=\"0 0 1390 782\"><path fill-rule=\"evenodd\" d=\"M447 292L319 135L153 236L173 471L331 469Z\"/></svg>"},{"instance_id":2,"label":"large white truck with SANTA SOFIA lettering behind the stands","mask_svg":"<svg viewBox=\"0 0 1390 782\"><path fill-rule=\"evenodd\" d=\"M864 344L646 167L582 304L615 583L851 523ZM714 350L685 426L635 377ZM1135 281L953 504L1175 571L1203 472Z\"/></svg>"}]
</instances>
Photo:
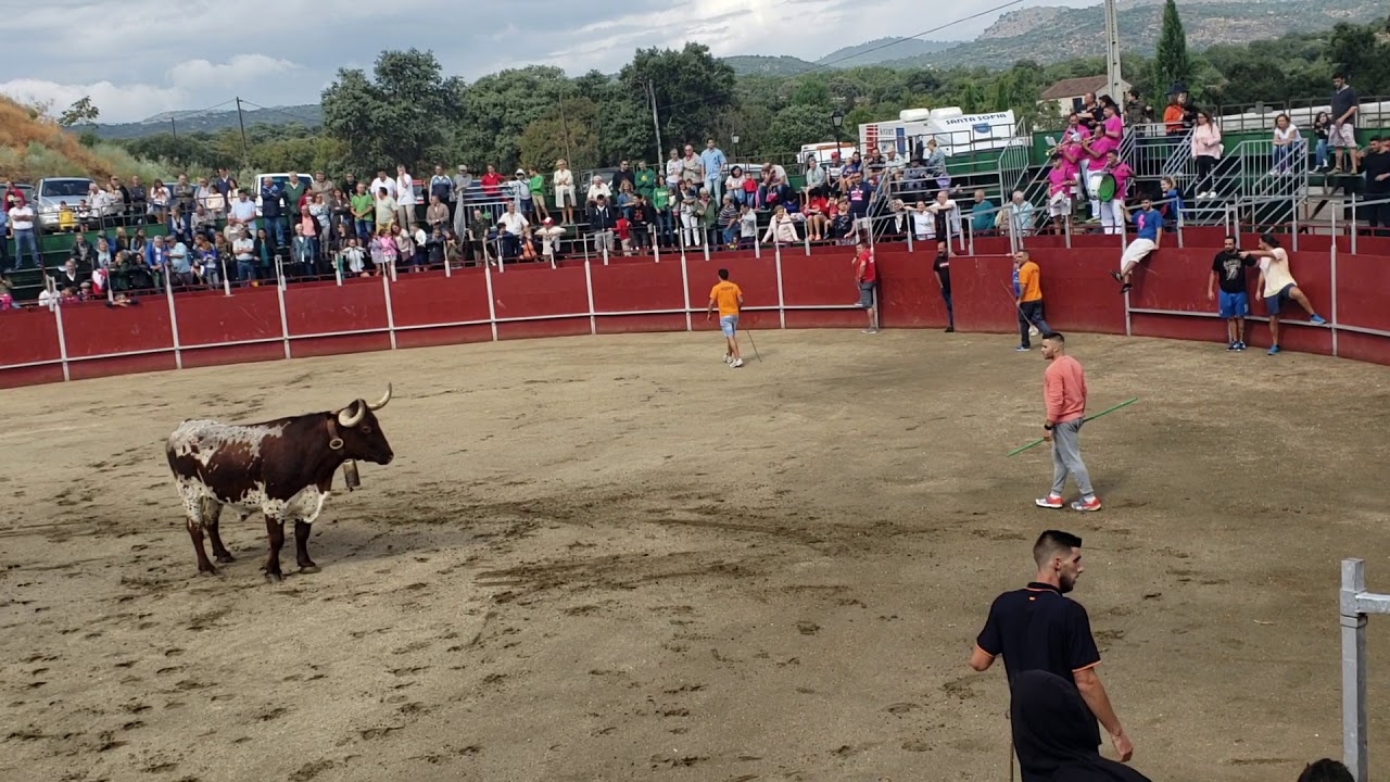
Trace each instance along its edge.
<instances>
[{"instance_id":1,"label":"large white truck with SANTA SOFIA lettering behind the stands","mask_svg":"<svg viewBox=\"0 0 1390 782\"><path fill-rule=\"evenodd\" d=\"M934 138L948 156L967 154L1019 143L1016 129L1013 110L965 114L959 106L906 109L897 120L859 125L859 147L897 149L898 154L910 159L920 156L927 139Z\"/></svg>"}]
</instances>

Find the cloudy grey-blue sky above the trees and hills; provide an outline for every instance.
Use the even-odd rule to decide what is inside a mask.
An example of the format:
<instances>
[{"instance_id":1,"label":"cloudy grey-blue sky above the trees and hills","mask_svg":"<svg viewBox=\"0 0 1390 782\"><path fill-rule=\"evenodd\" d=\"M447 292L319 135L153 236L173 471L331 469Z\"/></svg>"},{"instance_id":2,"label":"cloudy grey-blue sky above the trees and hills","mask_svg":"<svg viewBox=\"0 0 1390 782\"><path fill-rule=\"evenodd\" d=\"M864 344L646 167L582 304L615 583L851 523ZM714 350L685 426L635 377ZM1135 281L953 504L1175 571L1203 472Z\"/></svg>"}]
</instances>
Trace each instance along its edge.
<instances>
[{"instance_id":1,"label":"cloudy grey-blue sky above the trees and hills","mask_svg":"<svg viewBox=\"0 0 1390 782\"><path fill-rule=\"evenodd\" d=\"M817 60L1005 1L958 0L926 13L920 0L0 0L6 42L17 46L0 93L49 100L54 113L89 95L100 121L131 122L236 96L260 106L314 103L338 68L370 70L384 49L432 49L446 74L468 81L532 63L571 75L613 72L638 47L678 49L685 40L716 56ZM1094 0L1013 7L1038 4ZM970 39L997 15L926 38Z\"/></svg>"}]
</instances>

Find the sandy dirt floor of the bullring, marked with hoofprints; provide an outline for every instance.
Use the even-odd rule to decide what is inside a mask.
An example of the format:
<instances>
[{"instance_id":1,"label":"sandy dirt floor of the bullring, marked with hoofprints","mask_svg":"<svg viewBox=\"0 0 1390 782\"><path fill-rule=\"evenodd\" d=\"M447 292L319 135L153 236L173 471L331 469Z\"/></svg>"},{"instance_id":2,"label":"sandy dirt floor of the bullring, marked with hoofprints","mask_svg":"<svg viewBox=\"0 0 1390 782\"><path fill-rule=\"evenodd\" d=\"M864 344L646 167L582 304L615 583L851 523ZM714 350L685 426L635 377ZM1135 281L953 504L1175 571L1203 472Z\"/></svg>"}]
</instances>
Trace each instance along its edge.
<instances>
[{"instance_id":1,"label":"sandy dirt floor of the bullring, marked with hoofprints","mask_svg":"<svg viewBox=\"0 0 1390 782\"><path fill-rule=\"evenodd\" d=\"M1340 756L1339 559L1390 590L1384 367L1076 335L1093 410L1141 398L1087 426L1106 506L1081 515L1033 506L1044 448L1005 458L1041 420L1037 351L756 340L738 370L653 334L0 392L0 779L1002 782L1004 673L966 658L1049 526L1086 538L1074 597L1138 769ZM388 378L396 462L329 500L322 572L289 548L267 584L256 516L197 577L167 433Z\"/></svg>"}]
</instances>

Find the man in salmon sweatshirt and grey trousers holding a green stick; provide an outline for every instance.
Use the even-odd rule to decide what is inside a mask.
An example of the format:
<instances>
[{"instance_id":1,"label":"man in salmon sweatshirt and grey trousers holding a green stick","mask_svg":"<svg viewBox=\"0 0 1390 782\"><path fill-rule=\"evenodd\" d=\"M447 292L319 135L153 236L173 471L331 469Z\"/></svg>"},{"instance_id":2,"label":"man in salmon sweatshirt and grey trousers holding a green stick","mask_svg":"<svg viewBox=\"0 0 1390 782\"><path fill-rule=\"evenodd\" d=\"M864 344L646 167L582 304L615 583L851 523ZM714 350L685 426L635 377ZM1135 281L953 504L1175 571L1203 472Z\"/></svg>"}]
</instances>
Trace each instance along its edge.
<instances>
[{"instance_id":1,"label":"man in salmon sweatshirt and grey trousers holding a green stick","mask_svg":"<svg viewBox=\"0 0 1390 782\"><path fill-rule=\"evenodd\" d=\"M1081 362L1066 355L1066 340L1056 331L1042 334L1042 358L1051 362L1042 373L1042 398L1047 420L1042 440L1052 444L1052 491L1036 500L1038 508L1061 508L1066 476L1076 479L1081 498L1072 502L1073 511L1099 511L1101 498L1091 488L1091 473L1081 461L1081 419L1086 417L1086 373Z\"/></svg>"}]
</instances>

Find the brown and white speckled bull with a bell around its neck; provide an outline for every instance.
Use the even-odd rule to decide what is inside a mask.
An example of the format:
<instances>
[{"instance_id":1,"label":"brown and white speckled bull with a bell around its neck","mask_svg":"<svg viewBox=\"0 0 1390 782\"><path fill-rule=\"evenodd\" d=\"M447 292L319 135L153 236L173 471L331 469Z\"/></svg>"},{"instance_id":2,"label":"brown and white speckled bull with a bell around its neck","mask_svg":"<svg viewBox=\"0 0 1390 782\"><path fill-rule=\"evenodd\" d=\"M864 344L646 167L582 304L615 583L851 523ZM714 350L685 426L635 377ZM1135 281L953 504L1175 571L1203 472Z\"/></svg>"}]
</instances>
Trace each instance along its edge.
<instances>
[{"instance_id":1,"label":"brown and white speckled bull with a bell around its neck","mask_svg":"<svg viewBox=\"0 0 1390 782\"><path fill-rule=\"evenodd\" d=\"M356 399L335 412L252 423L186 420L170 434L165 452L178 483L188 534L193 538L199 573L217 568L203 550L203 532L213 541L213 557L231 562L217 523L229 505L240 519L260 511L270 534L265 577L279 580L279 548L285 520L295 522L295 559L300 572L316 573L309 558L310 525L324 509L334 473L349 459L391 463L393 454L377 424L375 410L391 401L391 385L377 402Z\"/></svg>"}]
</instances>

